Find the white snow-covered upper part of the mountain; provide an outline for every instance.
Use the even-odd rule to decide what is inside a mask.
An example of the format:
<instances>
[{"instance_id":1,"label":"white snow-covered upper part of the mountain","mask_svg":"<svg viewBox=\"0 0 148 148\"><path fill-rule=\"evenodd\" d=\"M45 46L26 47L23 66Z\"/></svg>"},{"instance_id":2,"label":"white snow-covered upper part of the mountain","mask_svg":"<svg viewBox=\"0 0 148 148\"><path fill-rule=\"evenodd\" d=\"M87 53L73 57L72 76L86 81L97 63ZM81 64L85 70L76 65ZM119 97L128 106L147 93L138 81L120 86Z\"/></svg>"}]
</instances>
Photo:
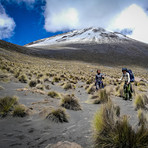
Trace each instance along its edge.
<instances>
[{"instance_id":1,"label":"white snow-covered upper part of the mountain","mask_svg":"<svg viewBox=\"0 0 148 148\"><path fill-rule=\"evenodd\" d=\"M56 35L53 37L34 41L25 45L26 47L40 47L54 44L71 44L71 43L118 43L131 40L125 35L116 32L109 32L103 28L85 28L74 30L72 32Z\"/></svg>"}]
</instances>

